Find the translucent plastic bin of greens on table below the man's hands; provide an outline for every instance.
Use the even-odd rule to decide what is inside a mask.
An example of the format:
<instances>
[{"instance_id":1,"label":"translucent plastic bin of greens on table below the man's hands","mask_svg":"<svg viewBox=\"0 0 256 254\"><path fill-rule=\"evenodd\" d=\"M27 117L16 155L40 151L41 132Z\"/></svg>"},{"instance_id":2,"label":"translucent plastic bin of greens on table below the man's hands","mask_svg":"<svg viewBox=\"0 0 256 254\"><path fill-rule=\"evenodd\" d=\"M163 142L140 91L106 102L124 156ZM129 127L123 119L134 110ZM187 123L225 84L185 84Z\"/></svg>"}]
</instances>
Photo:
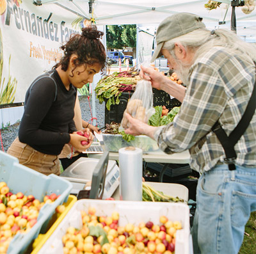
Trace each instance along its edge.
<instances>
[{"instance_id":1,"label":"translucent plastic bin of greens on table below the man's hands","mask_svg":"<svg viewBox=\"0 0 256 254\"><path fill-rule=\"evenodd\" d=\"M135 136L134 140L125 141L121 134L104 134L102 138L106 150L109 152L118 152L122 147L138 147L143 153L159 151L157 142L145 135Z\"/></svg>"}]
</instances>

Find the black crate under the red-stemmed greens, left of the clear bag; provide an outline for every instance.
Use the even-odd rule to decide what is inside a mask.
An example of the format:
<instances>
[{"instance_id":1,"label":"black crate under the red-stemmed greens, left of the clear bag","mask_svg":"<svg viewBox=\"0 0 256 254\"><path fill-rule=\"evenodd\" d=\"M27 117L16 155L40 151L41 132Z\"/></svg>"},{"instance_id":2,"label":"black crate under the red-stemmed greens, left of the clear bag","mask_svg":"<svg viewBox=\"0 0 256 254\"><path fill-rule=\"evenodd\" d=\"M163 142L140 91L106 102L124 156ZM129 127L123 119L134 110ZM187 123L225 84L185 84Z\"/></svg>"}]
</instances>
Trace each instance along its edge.
<instances>
[{"instance_id":1,"label":"black crate under the red-stemmed greens, left of the clear bag","mask_svg":"<svg viewBox=\"0 0 256 254\"><path fill-rule=\"evenodd\" d=\"M120 123L122 121L124 111L126 109L128 100L132 97L133 91L123 91L122 95L119 97L118 105L111 105L110 111L105 106L105 125L106 123L110 124L111 122ZM106 102L106 100L105 100Z\"/></svg>"}]
</instances>

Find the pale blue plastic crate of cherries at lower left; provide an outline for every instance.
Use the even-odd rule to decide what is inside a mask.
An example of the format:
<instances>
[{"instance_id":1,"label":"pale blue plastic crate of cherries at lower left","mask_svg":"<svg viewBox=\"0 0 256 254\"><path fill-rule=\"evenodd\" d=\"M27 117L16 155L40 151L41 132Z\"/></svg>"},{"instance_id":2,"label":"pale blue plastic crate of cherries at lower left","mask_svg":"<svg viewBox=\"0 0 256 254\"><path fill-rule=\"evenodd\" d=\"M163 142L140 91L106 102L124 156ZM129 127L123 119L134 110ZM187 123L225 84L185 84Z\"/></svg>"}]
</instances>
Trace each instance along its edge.
<instances>
[{"instance_id":1,"label":"pale blue plastic crate of cherries at lower left","mask_svg":"<svg viewBox=\"0 0 256 254\"><path fill-rule=\"evenodd\" d=\"M43 175L35 170L19 164L19 160L0 151L0 181L6 182L12 193L32 194L42 202L45 195L56 193L60 196L53 203L45 203L40 209L36 224L27 234L16 234L8 247L8 254L29 253L29 245L44 232L47 223L58 205L67 202L72 184L57 175Z\"/></svg>"}]
</instances>

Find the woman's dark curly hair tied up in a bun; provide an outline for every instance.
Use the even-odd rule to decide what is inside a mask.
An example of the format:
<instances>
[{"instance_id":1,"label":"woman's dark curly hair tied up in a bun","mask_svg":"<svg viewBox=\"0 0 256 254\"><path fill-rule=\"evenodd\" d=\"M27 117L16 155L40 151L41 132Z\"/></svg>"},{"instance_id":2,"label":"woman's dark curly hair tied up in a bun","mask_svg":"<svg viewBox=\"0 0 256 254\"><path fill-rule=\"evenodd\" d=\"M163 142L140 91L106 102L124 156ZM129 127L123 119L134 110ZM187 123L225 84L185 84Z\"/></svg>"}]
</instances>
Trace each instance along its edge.
<instances>
[{"instance_id":1,"label":"woman's dark curly hair tied up in a bun","mask_svg":"<svg viewBox=\"0 0 256 254\"><path fill-rule=\"evenodd\" d=\"M64 51L64 56L53 68L61 65L61 69L67 71L70 56L77 54L77 59L74 62L76 67L83 64L99 63L102 66L102 74L106 74L109 64L106 61L105 47L99 40L103 35L104 33L98 31L96 26L83 28L81 34L70 35L68 42L60 47Z\"/></svg>"}]
</instances>

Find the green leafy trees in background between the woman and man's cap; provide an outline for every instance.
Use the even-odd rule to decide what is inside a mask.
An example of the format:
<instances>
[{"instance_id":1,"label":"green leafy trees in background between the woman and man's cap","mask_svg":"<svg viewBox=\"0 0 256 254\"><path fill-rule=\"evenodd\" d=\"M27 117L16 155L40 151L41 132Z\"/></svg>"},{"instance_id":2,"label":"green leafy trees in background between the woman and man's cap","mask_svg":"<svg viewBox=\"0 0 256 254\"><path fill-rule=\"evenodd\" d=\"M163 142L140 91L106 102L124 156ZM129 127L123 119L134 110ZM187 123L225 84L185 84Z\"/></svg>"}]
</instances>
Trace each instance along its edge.
<instances>
[{"instance_id":1,"label":"green leafy trees in background between the woman and man's cap","mask_svg":"<svg viewBox=\"0 0 256 254\"><path fill-rule=\"evenodd\" d=\"M136 54L136 34L136 24L107 26L107 47L108 49L132 47L133 54Z\"/></svg>"}]
</instances>

